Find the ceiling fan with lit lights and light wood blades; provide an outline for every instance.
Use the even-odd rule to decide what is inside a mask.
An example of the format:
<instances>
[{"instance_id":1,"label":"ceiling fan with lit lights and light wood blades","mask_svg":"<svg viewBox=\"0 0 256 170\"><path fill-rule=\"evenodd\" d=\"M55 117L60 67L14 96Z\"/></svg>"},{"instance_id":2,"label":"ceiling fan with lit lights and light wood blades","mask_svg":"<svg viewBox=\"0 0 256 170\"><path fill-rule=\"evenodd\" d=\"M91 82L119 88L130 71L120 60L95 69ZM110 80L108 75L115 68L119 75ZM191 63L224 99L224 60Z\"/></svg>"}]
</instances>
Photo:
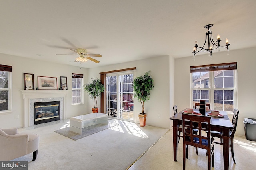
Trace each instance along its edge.
<instances>
[{"instance_id":1,"label":"ceiling fan with lit lights and light wood blades","mask_svg":"<svg viewBox=\"0 0 256 170\"><path fill-rule=\"evenodd\" d=\"M70 50L74 51L77 54L56 54L56 55L79 55L79 57L76 58L75 62L82 62L82 63L84 63L88 60L91 60L95 63L100 63L100 61L95 60L91 57L102 57L102 55L100 55L100 54L87 54L86 49L76 49L76 50L70 49ZM91 56L91 57L89 57L89 56Z\"/></svg>"}]
</instances>

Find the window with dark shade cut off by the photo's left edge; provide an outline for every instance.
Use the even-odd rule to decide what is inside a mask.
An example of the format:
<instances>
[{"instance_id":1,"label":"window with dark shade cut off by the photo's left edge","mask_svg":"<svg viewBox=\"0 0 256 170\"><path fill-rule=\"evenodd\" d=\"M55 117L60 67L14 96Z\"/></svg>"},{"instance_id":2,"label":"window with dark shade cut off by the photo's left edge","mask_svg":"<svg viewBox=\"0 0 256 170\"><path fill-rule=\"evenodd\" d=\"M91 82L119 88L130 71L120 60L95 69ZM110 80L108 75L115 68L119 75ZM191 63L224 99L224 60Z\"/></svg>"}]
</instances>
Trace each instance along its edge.
<instances>
[{"instance_id":1,"label":"window with dark shade cut off by the photo's left edge","mask_svg":"<svg viewBox=\"0 0 256 170\"><path fill-rule=\"evenodd\" d=\"M0 113L11 111L12 66L0 65Z\"/></svg>"}]
</instances>

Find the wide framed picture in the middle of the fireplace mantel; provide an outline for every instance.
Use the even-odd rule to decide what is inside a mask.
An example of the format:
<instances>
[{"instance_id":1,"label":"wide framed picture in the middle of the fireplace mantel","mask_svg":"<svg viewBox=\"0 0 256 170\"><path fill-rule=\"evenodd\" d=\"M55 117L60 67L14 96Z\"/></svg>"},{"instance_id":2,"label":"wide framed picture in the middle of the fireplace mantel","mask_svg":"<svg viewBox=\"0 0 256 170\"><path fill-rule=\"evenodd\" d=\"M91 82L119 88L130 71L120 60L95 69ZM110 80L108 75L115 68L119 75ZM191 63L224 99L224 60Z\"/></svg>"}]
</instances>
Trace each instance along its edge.
<instances>
[{"instance_id":1,"label":"wide framed picture in the middle of the fireplace mantel","mask_svg":"<svg viewBox=\"0 0 256 170\"><path fill-rule=\"evenodd\" d=\"M57 90L57 77L37 76L38 90Z\"/></svg>"}]
</instances>

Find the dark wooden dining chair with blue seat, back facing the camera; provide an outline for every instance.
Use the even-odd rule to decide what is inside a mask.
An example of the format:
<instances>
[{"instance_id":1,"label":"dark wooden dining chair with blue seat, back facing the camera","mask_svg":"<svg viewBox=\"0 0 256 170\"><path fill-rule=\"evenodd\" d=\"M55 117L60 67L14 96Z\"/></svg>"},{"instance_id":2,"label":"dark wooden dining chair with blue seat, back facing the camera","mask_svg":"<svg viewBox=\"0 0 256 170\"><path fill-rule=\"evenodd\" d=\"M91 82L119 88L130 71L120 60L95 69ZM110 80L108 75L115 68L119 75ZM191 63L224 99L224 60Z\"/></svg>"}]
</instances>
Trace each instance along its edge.
<instances>
[{"instance_id":1,"label":"dark wooden dining chair with blue seat, back facing the camera","mask_svg":"<svg viewBox=\"0 0 256 170\"><path fill-rule=\"evenodd\" d=\"M211 138L210 133L205 133L211 130L210 121L211 117L208 116L182 113L183 170L186 168L186 158L188 159L188 145L206 149L208 153L208 170L211 169L211 162L212 167L214 167L214 138ZM194 134L192 129L198 129L198 135Z\"/></svg>"}]
</instances>

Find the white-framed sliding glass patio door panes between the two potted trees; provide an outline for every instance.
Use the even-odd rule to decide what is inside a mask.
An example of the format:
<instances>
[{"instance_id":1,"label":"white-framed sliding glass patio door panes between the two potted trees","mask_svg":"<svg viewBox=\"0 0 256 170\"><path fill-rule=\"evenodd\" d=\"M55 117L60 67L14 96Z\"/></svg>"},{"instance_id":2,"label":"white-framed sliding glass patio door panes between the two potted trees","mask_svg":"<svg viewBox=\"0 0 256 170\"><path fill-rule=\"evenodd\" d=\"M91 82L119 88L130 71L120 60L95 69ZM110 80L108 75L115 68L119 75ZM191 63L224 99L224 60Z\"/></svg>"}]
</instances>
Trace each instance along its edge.
<instances>
[{"instance_id":1,"label":"white-framed sliding glass patio door panes between the two potted trees","mask_svg":"<svg viewBox=\"0 0 256 170\"><path fill-rule=\"evenodd\" d=\"M109 116L134 120L133 78L134 72L106 75L106 112Z\"/></svg>"}]
</instances>

